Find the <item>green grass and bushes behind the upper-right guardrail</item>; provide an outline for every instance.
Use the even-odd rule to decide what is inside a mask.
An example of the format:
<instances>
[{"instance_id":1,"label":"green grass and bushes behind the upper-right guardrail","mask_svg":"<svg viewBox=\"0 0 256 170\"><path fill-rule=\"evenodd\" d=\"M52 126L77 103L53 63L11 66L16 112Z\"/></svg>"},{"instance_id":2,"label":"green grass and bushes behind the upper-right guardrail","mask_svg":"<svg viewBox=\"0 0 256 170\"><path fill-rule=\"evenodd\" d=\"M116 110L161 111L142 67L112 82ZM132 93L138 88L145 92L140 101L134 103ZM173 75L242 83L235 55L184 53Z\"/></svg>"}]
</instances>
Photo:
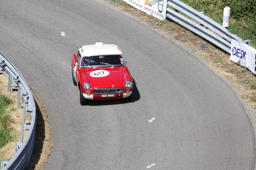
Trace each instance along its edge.
<instances>
[{"instance_id":1,"label":"green grass and bushes behind the upper-right guardrail","mask_svg":"<svg viewBox=\"0 0 256 170\"><path fill-rule=\"evenodd\" d=\"M204 11L205 15L220 25L223 22L223 10L230 7L230 22L228 31L242 40L251 40L251 46L256 48L256 0L181 0L197 11Z\"/></svg>"}]
</instances>

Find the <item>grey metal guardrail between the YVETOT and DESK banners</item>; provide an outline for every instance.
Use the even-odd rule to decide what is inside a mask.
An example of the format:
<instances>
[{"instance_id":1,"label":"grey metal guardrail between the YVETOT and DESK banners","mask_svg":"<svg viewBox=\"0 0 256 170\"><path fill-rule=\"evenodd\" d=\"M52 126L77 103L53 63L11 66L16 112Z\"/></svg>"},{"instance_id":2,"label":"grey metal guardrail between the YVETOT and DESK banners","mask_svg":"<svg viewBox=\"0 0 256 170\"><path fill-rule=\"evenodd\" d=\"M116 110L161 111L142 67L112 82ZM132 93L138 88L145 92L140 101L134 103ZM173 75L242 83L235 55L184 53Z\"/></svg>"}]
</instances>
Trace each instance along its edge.
<instances>
[{"instance_id":1,"label":"grey metal guardrail between the YVETOT and DESK banners","mask_svg":"<svg viewBox=\"0 0 256 170\"><path fill-rule=\"evenodd\" d=\"M248 45L251 44L250 40L243 41L235 34L230 33L224 26L221 26L219 23L205 16L204 12L196 11L179 0L169 0L167 5L170 5L175 10L167 8L166 18L173 20L193 33L203 37L205 40L220 47L229 54L231 53L231 39L247 43ZM181 15L178 11L195 21Z\"/></svg>"}]
</instances>

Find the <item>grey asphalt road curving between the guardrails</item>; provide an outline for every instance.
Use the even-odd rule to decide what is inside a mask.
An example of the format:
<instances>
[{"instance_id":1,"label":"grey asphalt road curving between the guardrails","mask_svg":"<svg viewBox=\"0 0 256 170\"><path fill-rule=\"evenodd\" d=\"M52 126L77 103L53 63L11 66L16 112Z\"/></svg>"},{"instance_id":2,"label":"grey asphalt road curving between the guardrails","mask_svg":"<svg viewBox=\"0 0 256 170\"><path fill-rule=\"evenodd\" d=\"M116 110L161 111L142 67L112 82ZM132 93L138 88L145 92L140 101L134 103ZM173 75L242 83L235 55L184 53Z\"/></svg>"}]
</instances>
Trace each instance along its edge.
<instances>
[{"instance_id":1,"label":"grey asphalt road curving between the guardrails","mask_svg":"<svg viewBox=\"0 0 256 170\"><path fill-rule=\"evenodd\" d=\"M80 105L71 56L95 42L125 54L131 102ZM44 169L254 169L252 125L230 85L104 1L1 0L0 51L47 109L53 147Z\"/></svg>"}]
</instances>

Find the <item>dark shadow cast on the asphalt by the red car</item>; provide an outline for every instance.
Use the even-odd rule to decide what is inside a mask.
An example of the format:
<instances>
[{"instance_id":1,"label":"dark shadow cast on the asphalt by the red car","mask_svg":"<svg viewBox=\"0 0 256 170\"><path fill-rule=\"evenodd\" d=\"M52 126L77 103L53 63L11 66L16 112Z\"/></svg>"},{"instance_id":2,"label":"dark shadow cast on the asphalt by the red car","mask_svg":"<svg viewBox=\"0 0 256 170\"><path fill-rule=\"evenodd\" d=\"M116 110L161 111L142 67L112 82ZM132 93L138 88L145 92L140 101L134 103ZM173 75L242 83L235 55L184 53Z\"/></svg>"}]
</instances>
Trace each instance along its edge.
<instances>
[{"instance_id":1,"label":"dark shadow cast on the asphalt by the red car","mask_svg":"<svg viewBox=\"0 0 256 170\"><path fill-rule=\"evenodd\" d=\"M103 106L103 105L119 105L125 103L133 103L140 100L140 92L136 86L136 81L133 80L133 88L132 88L132 100L125 101L125 99L115 99L115 100L90 100L87 106Z\"/></svg>"}]
</instances>

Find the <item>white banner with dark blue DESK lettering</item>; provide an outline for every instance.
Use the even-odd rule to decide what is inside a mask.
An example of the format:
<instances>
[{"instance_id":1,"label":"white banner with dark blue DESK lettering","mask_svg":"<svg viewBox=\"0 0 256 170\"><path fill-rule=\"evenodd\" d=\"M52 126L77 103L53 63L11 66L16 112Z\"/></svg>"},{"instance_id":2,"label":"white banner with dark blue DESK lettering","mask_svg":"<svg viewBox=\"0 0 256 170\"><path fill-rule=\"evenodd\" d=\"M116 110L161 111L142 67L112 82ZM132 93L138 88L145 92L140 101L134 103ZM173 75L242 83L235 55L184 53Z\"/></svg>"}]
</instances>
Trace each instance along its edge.
<instances>
[{"instance_id":1,"label":"white banner with dark blue DESK lettering","mask_svg":"<svg viewBox=\"0 0 256 170\"><path fill-rule=\"evenodd\" d=\"M255 55L256 49L245 43L231 39L230 60L248 68L253 74L255 74Z\"/></svg>"}]
</instances>

